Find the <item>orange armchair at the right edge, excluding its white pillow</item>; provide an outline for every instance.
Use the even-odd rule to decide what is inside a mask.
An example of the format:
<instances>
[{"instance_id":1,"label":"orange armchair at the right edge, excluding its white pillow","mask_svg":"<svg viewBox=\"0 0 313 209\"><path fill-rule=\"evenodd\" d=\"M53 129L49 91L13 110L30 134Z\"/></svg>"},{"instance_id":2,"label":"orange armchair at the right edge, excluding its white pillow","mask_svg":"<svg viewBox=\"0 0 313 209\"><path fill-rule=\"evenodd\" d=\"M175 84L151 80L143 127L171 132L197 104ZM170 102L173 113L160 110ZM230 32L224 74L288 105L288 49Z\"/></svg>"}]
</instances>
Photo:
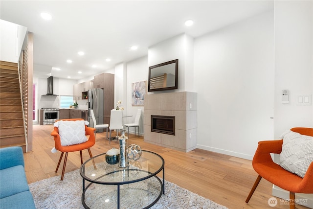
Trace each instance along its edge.
<instances>
[{"instance_id":1,"label":"orange armchair at the right edge, excluding its white pillow","mask_svg":"<svg viewBox=\"0 0 313 209\"><path fill-rule=\"evenodd\" d=\"M292 128L291 131L302 135L313 136L313 128ZM259 174L246 198L249 202L254 190L262 178L290 192L290 209L295 209L294 193L313 193L313 163L310 164L304 178L293 174L272 161L270 153L280 154L283 139L259 141L252 160L254 170Z\"/></svg>"}]
</instances>

